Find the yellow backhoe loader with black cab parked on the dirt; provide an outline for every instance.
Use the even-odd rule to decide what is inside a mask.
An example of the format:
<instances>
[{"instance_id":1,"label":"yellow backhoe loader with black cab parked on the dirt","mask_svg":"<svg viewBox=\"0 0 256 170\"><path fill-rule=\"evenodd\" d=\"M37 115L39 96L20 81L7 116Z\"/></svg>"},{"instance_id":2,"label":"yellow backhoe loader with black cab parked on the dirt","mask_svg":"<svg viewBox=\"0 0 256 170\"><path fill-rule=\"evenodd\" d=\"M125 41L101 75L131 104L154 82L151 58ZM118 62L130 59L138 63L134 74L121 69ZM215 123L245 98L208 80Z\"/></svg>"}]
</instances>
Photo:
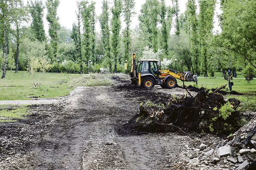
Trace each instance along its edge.
<instances>
[{"instance_id":1,"label":"yellow backhoe loader with black cab parked on the dirt","mask_svg":"<svg viewBox=\"0 0 256 170\"><path fill-rule=\"evenodd\" d=\"M144 88L153 88L154 85L160 85L162 88L175 88L176 79L187 82L195 81L189 71L181 73L171 69L160 69L156 59L142 59L136 64L136 54L133 53L130 73L131 84L141 85Z\"/></svg>"}]
</instances>

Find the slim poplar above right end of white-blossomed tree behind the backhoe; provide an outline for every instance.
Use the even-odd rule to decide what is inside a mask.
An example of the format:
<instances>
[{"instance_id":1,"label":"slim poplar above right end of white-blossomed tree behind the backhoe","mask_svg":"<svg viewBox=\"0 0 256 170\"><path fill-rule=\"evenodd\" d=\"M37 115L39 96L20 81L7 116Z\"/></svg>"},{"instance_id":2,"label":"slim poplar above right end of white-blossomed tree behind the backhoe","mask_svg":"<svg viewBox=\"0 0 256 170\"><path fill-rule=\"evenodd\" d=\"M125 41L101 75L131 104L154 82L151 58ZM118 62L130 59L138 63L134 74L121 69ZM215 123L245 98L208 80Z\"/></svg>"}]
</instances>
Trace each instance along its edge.
<instances>
[{"instance_id":1,"label":"slim poplar above right end of white-blossomed tree behind the backhoe","mask_svg":"<svg viewBox=\"0 0 256 170\"><path fill-rule=\"evenodd\" d=\"M170 7L167 7L165 4L165 0L161 0L160 6L160 23L162 27L160 28L161 37L160 37L160 45L162 49L164 49L164 54L168 56L168 41L170 37L170 31L172 26L172 13Z\"/></svg>"}]
</instances>

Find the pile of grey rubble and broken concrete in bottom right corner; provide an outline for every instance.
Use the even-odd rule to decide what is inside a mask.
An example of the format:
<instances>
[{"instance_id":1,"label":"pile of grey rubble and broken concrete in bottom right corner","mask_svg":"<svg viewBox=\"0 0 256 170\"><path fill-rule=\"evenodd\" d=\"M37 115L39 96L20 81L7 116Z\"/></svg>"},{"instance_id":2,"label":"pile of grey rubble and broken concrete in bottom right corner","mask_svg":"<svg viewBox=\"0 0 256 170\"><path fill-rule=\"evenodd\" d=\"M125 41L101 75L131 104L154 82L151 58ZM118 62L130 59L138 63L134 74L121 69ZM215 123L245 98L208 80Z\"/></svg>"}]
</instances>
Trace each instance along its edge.
<instances>
[{"instance_id":1,"label":"pile of grey rubble and broken concrete in bottom right corner","mask_svg":"<svg viewBox=\"0 0 256 170\"><path fill-rule=\"evenodd\" d=\"M256 115L256 113L251 113ZM256 119L226 139L210 144L186 146L179 167L186 169L253 170L256 168ZM178 162L177 162L178 163Z\"/></svg>"}]
</instances>

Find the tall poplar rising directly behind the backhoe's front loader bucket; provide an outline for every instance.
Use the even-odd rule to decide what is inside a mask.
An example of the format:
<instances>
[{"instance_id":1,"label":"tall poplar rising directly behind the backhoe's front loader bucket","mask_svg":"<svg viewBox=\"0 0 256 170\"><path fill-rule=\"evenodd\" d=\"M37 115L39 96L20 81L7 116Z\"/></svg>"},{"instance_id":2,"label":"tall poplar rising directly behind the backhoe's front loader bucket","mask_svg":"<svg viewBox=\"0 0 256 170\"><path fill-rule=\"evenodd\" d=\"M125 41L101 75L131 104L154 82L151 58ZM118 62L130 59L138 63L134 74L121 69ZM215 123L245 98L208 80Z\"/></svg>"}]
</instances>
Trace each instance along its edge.
<instances>
[{"instance_id":1,"label":"tall poplar rising directly behind the backhoe's front loader bucket","mask_svg":"<svg viewBox=\"0 0 256 170\"><path fill-rule=\"evenodd\" d=\"M198 30L198 15L196 14L196 4L195 0L188 0L187 9L186 9L186 17L189 25L189 38L192 44L192 71L193 74L200 73L199 67L199 30Z\"/></svg>"}]
</instances>

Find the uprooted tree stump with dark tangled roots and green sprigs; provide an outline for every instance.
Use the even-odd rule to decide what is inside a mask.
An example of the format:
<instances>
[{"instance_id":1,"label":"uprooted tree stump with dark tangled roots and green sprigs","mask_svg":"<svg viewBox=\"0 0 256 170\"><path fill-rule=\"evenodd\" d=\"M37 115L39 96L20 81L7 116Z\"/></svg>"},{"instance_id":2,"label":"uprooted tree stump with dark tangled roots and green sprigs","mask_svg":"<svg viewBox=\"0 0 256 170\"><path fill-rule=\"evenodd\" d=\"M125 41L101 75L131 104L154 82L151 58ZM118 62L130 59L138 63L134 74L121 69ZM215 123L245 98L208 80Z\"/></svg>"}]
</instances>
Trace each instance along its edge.
<instances>
[{"instance_id":1,"label":"uprooted tree stump with dark tangled roots and green sprigs","mask_svg":"<svg viewBox=\"0 0 256 170\"><path fill-rule=\"evenodd\" d=\"M137 130L148 132L176 131L177 126L186 132L229 135L243 125L236 111L239 104L237 99L227 100L221 94L201 91L195 97L171 97L164 109L156 105L140 106L140 114L129 123Z\"/></svg>"}]
</instances>

